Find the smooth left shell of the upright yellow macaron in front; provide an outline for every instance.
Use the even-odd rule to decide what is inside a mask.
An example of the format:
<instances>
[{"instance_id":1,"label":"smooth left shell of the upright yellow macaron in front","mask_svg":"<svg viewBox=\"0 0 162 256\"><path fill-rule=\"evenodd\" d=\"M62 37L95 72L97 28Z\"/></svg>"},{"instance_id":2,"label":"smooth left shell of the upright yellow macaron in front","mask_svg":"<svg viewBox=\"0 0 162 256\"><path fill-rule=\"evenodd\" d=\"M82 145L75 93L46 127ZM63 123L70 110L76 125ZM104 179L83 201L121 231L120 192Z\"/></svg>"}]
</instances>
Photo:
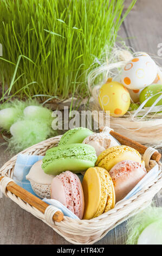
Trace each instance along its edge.
<instances>
[{"instance_id":1,"label":"smooth left shell of the upright yellow macaron in front","mask_svg":"<svg viewBox=\"0 0 162 256\"><path fill-rule=\"evenodd\" d=\"M101 181L99 173L95 168L89 168L87 170L83 178L82 187L85 197L85 211L83 219L90 220L96 214L101 198Z\"/></svg>"}]
</instances>

